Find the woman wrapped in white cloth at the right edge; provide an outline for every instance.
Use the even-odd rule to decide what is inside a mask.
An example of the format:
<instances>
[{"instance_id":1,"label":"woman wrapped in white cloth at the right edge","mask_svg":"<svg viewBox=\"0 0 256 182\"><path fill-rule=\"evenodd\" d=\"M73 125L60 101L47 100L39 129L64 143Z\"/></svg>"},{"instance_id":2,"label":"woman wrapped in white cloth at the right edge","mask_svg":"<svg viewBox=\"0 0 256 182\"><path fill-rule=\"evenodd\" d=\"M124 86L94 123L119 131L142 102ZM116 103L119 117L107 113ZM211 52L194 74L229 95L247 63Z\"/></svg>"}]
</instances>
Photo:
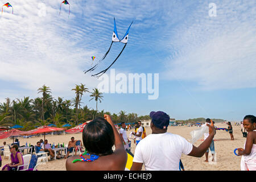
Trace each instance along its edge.
<instances>
[{"instance_id":1,"label":"woman wrapped in white cloth at the right edge","mask_svg":"<svg viewBox=\"0 0 256 182\"><path fill-rule=\"evenodd\" d=\"M241 158L241 171L256 171L256 117L246 115L243 126L248 132L244 148L238 148Z\"/></svg>"}]
</instances>

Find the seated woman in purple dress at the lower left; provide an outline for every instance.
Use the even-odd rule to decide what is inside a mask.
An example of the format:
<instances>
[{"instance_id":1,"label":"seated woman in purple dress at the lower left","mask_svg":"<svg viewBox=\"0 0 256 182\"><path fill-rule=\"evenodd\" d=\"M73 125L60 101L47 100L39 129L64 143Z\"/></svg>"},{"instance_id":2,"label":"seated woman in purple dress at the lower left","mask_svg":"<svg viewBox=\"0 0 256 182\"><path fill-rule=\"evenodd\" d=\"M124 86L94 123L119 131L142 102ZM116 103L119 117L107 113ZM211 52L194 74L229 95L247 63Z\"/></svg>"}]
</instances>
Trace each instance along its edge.
<instances>
[{"instance_id":1,"label":"seated woman in purple dress at the lower left","mask_svg":"<svg viewBox=\"0 0 256 182\"><path fill-rule=\"evenodd\" d=\"M6 164L2 171L16 171L18 166L23 165L23 157L22 154L18 150L18 145L14 144L11 146L11 163ZM19 168L20 170L23 169L23 166Z\"/></svg>"}]
</instances>

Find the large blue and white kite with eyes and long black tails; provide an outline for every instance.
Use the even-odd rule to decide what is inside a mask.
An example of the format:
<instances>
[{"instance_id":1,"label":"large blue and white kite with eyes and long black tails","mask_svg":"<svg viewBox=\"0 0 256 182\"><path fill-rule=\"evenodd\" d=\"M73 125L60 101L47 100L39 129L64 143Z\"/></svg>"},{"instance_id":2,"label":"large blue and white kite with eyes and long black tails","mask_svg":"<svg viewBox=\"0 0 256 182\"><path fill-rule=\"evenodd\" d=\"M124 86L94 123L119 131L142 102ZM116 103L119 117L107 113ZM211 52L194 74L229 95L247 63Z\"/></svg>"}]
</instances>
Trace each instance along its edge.
<instances>
[{"instance_id":1,"label":"large blue and white kite with eyes and long black tails","mask_svg":"<svg viewBox=\"0 0 256 182\"><path fill-rule=\"evenodd\" d=\"M131 24L132 24L132 23L133 23L133 22L131 22ZM108 51L107 51L107 52L105 53L105 55L101 58L101 60L99 60L96 65L94 65L94 67L88 69L88 71L84 71L85 73L86 73L86 72L94 71L94 69L96 69L96 68L98 67L98 64L100 64L101 61L105 59L106 55L108 55L108 53L109 53L109 51L110 51L110 48L112 47L113 42L121 42L121 43L125 44L125 46L123 46L122 51L121 51L121 52L119 53L119 55L115 58L115 60L113 61L113 63L110 64L110 66L109 66L108 68L106 68L106 69L104 69L103 71L101 71L101 72L99 72L99 73L97 73L97 74L94 74L94 75L92 75L92 76L100 77L100 76L102 76L104 73L106 73L106 71L108 71L108 69L109 69L110 67L112 67L112 65L115 63L115 61L118 59L118 57L119 57L119 56L121 55L121 53L123 52L123 49L125 49L125 47L126 47L126 44L127 44L127 42L128 42L128 34L129 34L129 30L130 30L131 24L130 24L129 28L128 28L127 31L126 31L125 36L123 36L122 39L119 39L119 38L118 38L118 34L117 34L117 26L115 26L115 18L114 18L114 32L113 32L113 35L112 35L112 43L110 44L110 47L109 47Z\"/></svg>"}]
</instances>

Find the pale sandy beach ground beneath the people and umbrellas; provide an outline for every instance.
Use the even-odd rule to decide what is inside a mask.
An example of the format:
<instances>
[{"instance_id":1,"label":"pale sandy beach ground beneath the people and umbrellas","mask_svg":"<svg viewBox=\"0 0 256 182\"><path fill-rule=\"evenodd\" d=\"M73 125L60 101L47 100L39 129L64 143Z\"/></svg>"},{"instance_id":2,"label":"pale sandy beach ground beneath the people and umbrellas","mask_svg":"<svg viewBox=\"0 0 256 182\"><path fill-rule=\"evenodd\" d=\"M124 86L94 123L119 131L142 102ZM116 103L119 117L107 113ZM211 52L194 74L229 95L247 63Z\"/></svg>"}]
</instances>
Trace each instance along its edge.
<instances>
[{"instance_id":1,"label":"pale sandy beach ground beneath the people and umbrellas","mask_svg":"<svg viewBox=\"0 0 256 182\"><path fill-rule=\"evenodd\" d=\"M225 123L216 123L217 127L227 127ZM240 171L240 160L241 156L234 155L234 148L242 147L245 143L246 138L242 137L241 126L233 126L233 135L234 140L230 140L230 135L228 132L224 130L217 130L214 139L215 151L216 151L216 162L210 162L211 155L209 152L209 163L204 162L205 155L201 158L195 158L192 156L182 155L181 160L183 162L184 169L186 171ZM196 130L198 127L188 127L188 126L169 126L168 132L178 134L181 137L189 140L191 139L190 132L192 130ZM127 131L127 136L129 136L130 131ZM146 127L146 134L151 134L150 127ZM46 139L48 139L48 143L63 143L68 144L71 137L75 137L75 139L82 140L82 134L65 134L65 135L46 135ZM31 143L33 145L36 144L40 139L44 139L42 137L34 137L34 138L20 138L20 146L25 145L27 143ZM202 138L203 139L203 138ZM0 146L3 145L3 142L13 143L13 139L0 139ZM199 146L202 143L202 140L199 140L195 143L195 146ZM132 142L131 144L131 152L134 154L135 144ZM27 150L24 151L26 155ZM8 158L3 159L2 157L2 167L5 166L6 163L10 163ZM42 164L38 167L39 171L65 171L65 162L66 159L59 160L51 160L47 164ZM1 169L2 169L1 167ZM144 166L143 166L144 170Z\"/></svg>"}]
</instances>

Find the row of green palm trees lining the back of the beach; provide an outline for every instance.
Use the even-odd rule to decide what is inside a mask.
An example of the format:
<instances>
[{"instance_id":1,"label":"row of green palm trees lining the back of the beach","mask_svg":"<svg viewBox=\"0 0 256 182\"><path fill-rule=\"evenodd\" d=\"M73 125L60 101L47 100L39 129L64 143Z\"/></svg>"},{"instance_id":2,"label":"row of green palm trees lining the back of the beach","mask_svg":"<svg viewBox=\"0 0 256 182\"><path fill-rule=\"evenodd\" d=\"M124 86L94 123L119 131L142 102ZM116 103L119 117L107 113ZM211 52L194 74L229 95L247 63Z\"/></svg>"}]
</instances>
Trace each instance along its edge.
<instances>
[{"instance_id":1,"label":"row of green palm trees lining the back of the beach","mask_svg":"<svg viewBox=\"0 0 256 182\"><path fill-rule=\"evenodd\" d=\"M97 88L89 92L85 85L76 85L74 89L75 98L73 100L64 100L63 97L56 99L51 96L51 89L43 85L38 89L38 94L42 97L31 99L23 97L22 99L6 98L6 101L0 103L0 126L23 126L23 131L35 129L35 126L44 126L53 124L62 127L66 123L77 126L79 123L92 120L96 117L104 117L108 114L112 117L114 123L130 122L134 123L142 119L150 119L149 115L138 116L137 113L127 113L124 110L119 113L111 114L109 111L98 111L98 101L103 101L103 94ZM88 108L87 105L81 105L82 95L86 92L90 93L90 100L96 101L96 110ZM71 108L71 106L74 106Z\"/></svg>"}]
</instances>

